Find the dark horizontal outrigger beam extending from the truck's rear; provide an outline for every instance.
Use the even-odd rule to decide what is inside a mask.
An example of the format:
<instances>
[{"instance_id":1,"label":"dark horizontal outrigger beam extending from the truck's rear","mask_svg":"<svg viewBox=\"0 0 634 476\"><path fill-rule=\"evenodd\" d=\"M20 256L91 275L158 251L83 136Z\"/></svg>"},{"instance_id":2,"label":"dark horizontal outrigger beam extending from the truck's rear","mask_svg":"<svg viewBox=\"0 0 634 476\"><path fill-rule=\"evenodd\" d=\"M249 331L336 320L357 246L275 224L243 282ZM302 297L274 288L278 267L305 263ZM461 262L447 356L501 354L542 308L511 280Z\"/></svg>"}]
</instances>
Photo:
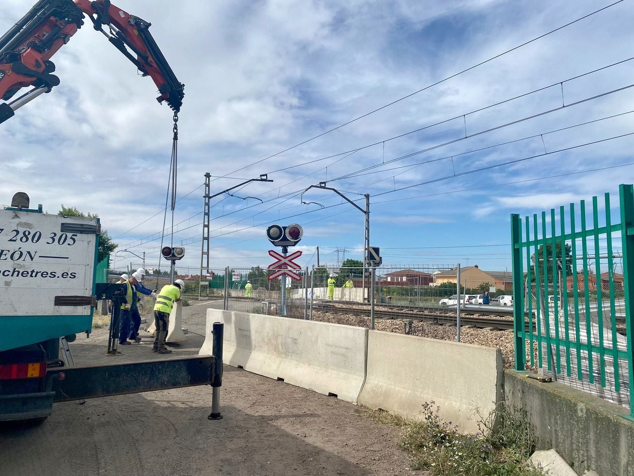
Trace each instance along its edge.
<instances>
[{"instance_id":1,"label":"dark horizontal outrigger beam extending from the truck's rear","mask_svg":"<svg viewBox=\"0 0 634 476\"><path fill-rule=\"evenodd\" d=\"M111 366L61 367L48 371L55 402L214 383L216 360L210 355L150 360Z\"/></svg>"}]
</instances>

